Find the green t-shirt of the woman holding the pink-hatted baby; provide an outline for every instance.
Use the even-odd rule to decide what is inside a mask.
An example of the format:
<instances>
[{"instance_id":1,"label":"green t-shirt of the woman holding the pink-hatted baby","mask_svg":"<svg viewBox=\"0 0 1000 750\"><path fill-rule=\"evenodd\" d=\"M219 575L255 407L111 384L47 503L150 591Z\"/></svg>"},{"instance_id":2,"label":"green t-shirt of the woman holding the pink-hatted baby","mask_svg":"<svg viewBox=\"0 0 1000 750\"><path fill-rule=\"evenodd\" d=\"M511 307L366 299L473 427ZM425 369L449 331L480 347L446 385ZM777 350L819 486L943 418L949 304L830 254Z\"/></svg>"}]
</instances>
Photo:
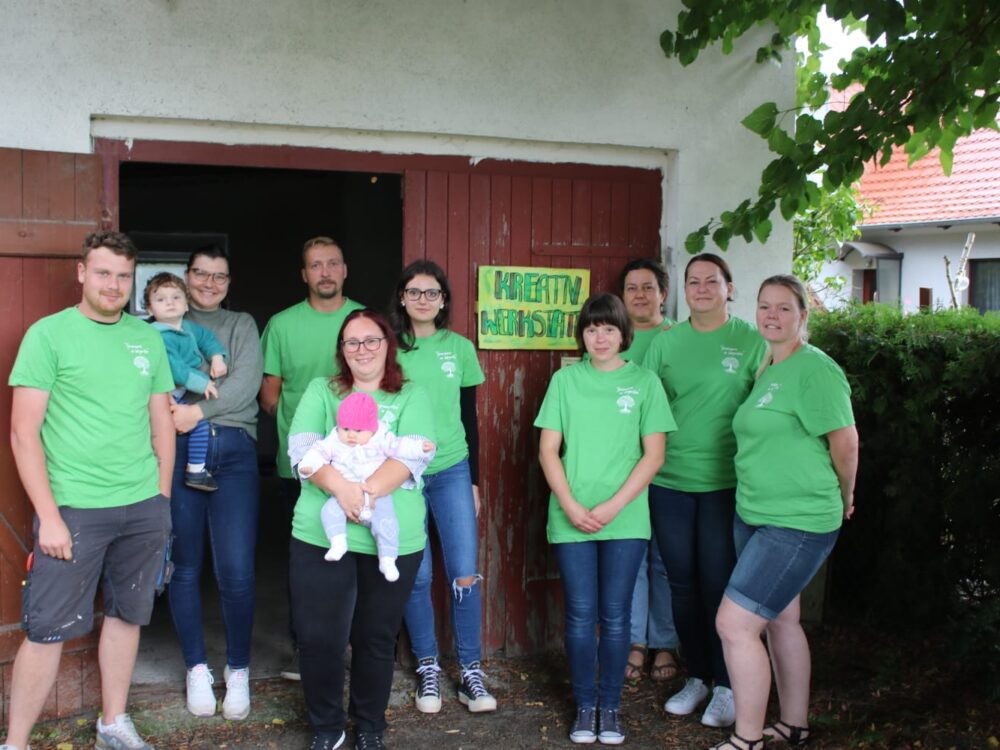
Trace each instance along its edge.
<instances>
[{"instance_id":1,"label":"green t-shirt of the woman holding the pink-hatted baby","mask_svg":"<svg viewBox=\"0 0 1000 750\"><path fill-rule=\"evenodd\" d=\"M366 391L367 392L367 391ZM337 408L349 394L340 396L330 388L329 378L316 378L306 388L299 408L292 420L290 435L306 436L308 442L324 438L337 424ZM415 383L406 383L399 393L375 391L369 393L378 404L379 420L389 424L397 435L420 436L436 442L434 411L427 391ZM292 536L318 547L329 546L330 540L323 533L319 512L329 495L312 482L302 483L302 493L295 504L292 518ZM427 542L424 532L424 496L420 487L392 493L392 502L399 519L399 554L419 552ZM375 538L366 527L347 524L347 548L351 552L374 555Z\"/></svg>"}]
</instances>

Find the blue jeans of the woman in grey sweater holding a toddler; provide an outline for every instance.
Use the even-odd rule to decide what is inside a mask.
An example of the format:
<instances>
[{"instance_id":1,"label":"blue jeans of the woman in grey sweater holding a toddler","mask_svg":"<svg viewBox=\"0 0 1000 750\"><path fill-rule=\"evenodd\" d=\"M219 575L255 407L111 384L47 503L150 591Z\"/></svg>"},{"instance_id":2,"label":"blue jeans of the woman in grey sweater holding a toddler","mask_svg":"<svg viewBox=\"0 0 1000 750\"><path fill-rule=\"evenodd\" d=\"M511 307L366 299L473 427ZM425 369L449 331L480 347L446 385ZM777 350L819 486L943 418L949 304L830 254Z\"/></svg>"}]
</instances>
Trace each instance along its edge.
<instances>
[{"instance_id":1,"label":"blue jeans of the woman in grey sweater holding a toddler","mask_svg":"<svg viewBox=\"0 0 1000 750\"><path fill-rule=\"evenodd\" d=\"M254 550L260 505L257 448L238 427L213 424L207 468L219 483L214 492L184 484L184 462L174 466L170 510L174 524L174 576L167 589L170 614L190 669L207 661L202 632L201 569L205 534L212 545L215 581L226 629L226 663L250 664L254 613ZM177 436L177 455L187 451L187 435Z\"/></svg>"}]
</instances>

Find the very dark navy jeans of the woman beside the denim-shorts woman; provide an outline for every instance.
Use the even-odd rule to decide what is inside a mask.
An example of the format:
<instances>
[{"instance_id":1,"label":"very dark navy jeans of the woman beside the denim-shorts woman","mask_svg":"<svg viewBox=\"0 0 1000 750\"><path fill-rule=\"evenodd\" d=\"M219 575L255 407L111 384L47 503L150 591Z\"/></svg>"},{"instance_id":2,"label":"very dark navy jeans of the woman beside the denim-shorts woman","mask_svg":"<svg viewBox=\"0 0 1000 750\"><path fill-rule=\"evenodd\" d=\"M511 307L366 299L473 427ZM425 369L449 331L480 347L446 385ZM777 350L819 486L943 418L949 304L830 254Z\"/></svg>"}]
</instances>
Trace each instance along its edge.
<instances>
[{"instance_id":1,"label":"very dark navy jeans of the woman beside the denim-shorts woman","mask_svg":"<svg viewBox=\"0 0 1000 750\"><path fill-rule=\"evenodd\" d=\"M729 687L715 613L736 564L736 490L684 492L652 485L649 508L653 532L663 550L674 624L688 674Z\"/></svg>"}]
</instances>

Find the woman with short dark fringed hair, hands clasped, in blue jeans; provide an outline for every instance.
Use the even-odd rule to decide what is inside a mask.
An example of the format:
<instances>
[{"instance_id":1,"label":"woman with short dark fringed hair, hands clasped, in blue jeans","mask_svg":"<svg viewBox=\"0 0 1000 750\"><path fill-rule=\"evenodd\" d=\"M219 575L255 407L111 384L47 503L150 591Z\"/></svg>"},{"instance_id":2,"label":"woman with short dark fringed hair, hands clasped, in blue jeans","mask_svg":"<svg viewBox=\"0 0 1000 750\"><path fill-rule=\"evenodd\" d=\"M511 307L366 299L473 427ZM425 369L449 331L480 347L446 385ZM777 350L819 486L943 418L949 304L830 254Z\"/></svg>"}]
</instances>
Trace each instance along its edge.
<instances>
[{"instance_id":1,"label":"woman with short dark fringed hair, hands clasped, in blue jeans","mask_svg":"<svg viewBox=\"0 0 1000 750\"><path fill-rule=\"evenodd\" d=\"M535 419L538 459L552 489L547 536L566 601L576 699L569 737L618 745L632 590L649 545L647 492L663 463L664 433L676 425L656 376L622 359L632 323L618 297L588 299L576 338L590 356L552 376Z\"/></svg>"}]
</instances>

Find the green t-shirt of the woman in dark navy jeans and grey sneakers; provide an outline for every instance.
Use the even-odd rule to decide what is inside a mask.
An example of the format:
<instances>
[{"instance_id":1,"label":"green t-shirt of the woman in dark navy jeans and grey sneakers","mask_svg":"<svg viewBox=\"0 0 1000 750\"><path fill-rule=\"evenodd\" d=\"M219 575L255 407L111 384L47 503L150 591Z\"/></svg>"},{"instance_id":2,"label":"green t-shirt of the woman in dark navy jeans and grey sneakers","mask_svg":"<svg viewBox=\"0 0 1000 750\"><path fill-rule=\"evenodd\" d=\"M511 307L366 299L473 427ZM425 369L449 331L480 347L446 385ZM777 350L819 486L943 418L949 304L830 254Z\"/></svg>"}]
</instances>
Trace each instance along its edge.
<instances>
[{"instance_id":1,"label":"green t-shirt of the woman in dark navy jeans and grey sneakers","mask_svg":"<svg viewBox=\"0 0 1000 750\"><path fill-rule=\"evenodd\" d=\"M686 320L656 337L643 366L663 382L677 432L653 484L684 492L736 486L733 414L766 351L757 329L732 317L714 331L697 331Z\"/></svg>"}]
</instances>

